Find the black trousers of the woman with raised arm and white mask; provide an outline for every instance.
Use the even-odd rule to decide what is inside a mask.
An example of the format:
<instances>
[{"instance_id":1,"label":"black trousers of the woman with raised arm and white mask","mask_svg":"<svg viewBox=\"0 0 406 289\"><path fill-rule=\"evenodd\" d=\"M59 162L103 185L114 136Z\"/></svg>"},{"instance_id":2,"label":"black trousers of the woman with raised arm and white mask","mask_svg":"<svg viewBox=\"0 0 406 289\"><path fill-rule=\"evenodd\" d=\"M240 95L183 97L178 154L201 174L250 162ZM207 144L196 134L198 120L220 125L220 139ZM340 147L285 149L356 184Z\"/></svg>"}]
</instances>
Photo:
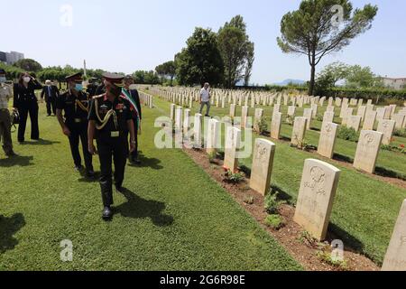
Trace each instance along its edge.
<instances>
[{"instance_id":1,"label":"black trousers of the woman with raised arm and white mask","mask_svg":"<svg viewBox=\"0 0 406 289\"><path fill-rule=\"evenodd\" d=\"M38 126L38 103L30 101L22 106L17 107L20 113L20 124L18 125L18 141L22 143L25 138L25 127L27 126L28 114L31 119L31 139L38 140L40 138L40 129Z\"/></svg>"}]
</instances>

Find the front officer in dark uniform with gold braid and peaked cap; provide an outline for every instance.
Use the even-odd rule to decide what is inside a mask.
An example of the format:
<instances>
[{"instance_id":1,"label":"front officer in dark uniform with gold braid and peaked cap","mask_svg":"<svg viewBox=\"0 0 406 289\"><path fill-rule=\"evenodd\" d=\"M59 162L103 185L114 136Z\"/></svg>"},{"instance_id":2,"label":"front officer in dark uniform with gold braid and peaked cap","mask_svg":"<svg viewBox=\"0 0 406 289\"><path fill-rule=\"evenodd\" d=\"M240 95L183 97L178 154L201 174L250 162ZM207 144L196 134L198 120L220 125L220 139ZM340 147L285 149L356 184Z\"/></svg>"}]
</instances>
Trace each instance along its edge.
<instances>
[{"instance_id":1,"label":"front officer in dark uniform with gold braid and peaked cap","mask_svg":"<svg viewBox=\"0 0 406 289\"><path fill-rule=\"evenodd\" d=\"M130 152L135 148L135 133L131 104L121 97L123 77L105 73L106 93L93 98L88 114L88 151L100 159L100 188L104 205L103 219L113 217L112 158L115 163L115 189L123 191L125 163L128 156L128 133ZM97 151L93 144L97 140Z\"/></svg>"}]
</instances>

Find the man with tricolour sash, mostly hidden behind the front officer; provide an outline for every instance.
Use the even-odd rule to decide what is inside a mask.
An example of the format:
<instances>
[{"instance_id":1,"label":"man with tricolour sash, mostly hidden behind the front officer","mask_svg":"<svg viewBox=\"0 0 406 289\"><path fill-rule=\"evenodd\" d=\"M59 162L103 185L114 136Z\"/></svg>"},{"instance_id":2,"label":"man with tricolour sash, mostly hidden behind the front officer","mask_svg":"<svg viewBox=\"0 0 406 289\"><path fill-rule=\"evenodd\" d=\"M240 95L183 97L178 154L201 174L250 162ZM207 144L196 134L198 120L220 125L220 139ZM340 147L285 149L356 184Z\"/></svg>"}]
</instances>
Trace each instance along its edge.
<instances>
[{"instance_id":1,"label":"man with tricolour sash, mostly hidden behind the front officer","mask_svg":"<svg viewBox=\"0 0 406 289\"><path fill-rule=\"evenodd\" d=\"M134 130L135 130L135 150L130 154L130 163L140 164L138 159L138 133L141 132L141 101L140 95L137 89L130 89L130 86L134 84L134 79L131 75L125 76L125 87L123 89L123 96L130 101L131 111L133 112Z\"/></svg>"}]
</instances>

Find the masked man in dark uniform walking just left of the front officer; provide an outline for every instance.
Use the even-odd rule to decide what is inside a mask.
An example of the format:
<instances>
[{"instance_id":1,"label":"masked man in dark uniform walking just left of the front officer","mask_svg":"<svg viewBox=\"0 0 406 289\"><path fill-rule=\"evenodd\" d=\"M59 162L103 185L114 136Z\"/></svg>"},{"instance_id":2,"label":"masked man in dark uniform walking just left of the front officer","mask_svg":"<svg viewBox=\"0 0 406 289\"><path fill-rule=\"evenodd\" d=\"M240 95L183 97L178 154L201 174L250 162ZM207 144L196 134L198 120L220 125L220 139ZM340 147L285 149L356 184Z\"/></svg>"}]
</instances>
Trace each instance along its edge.
<instances>
[{"instance_id":1,"label":"masked man in dark uniform walking just left of the front officer","mask_svg":"<svg viewBox=\"0 0 406 289\"><path fill-rule=\"evenodd\" d=\"M78 72L66 78L68 91L61 94L57 100L57 117L63 134L69 137L70 151L72 153L75 169L81 171L78 144L82 143L83 157L85 159L86 174L94 177L92 155L88 152L88 95L82 91L82 74ZM62 117L65 112L65 119Z\"/></svg>"}]
</instances>

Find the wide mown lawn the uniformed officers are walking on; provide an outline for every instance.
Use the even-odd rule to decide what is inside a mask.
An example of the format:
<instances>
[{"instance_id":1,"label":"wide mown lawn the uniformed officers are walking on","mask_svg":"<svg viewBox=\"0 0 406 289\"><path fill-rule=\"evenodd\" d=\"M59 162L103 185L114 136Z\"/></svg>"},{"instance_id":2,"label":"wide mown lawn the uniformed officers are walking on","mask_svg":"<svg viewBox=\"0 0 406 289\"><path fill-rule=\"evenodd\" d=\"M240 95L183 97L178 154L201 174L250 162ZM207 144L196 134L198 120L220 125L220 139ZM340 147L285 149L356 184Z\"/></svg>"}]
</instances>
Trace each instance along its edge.
<instances>
[{"instance_id":1,"label":"wide mown lawn the uniformed officers are walking on","mask_svg":"<svg viewBox=\"0 0 406 289\"><path fill-rule=\"evenodd\" d=\"M43 141L0 154L0 270L300 270L186 154L155 148L160 116L144 108L143 166L127 166L128 191L115 192L106 223L98 183L73 172L68 139L42 105ZM60 260L64 239L71 263Z\"/></svg>"}]
</instances>

